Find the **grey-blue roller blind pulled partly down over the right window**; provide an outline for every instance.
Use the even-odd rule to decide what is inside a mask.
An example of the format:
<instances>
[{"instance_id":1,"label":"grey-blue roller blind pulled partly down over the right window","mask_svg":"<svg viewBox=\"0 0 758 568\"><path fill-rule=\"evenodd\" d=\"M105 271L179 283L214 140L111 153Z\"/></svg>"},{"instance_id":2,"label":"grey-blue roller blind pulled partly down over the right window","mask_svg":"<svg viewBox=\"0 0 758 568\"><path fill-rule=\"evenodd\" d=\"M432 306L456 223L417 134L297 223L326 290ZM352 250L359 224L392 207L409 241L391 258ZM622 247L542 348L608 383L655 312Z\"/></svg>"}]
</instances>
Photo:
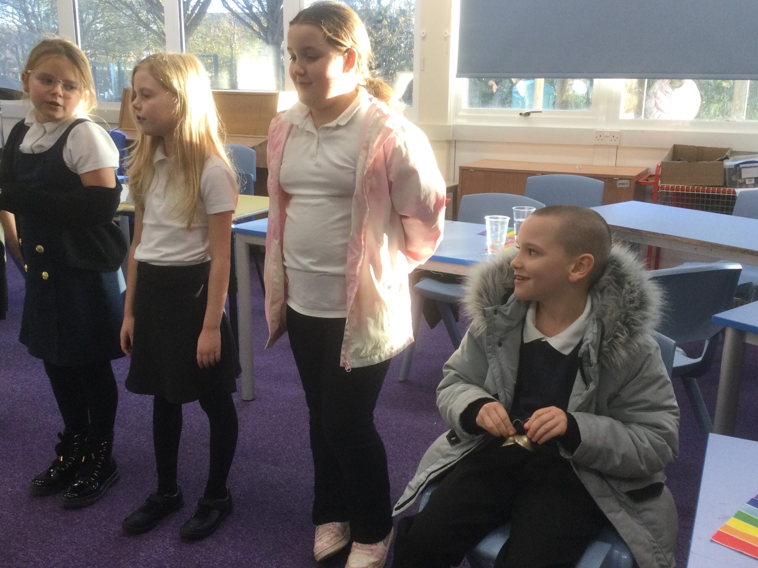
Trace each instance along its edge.
<instances>
[{"instance_id":1,"label":"grey-blue roller blind pulled partly down over the right window","mask_svg":"<svg viewBox=\"0 0 758 568\"><path fill-rule=\"evenodd\" d=\"M758 79L758 0L460 0L459 77Z\"/></svg>"}]
</instances>

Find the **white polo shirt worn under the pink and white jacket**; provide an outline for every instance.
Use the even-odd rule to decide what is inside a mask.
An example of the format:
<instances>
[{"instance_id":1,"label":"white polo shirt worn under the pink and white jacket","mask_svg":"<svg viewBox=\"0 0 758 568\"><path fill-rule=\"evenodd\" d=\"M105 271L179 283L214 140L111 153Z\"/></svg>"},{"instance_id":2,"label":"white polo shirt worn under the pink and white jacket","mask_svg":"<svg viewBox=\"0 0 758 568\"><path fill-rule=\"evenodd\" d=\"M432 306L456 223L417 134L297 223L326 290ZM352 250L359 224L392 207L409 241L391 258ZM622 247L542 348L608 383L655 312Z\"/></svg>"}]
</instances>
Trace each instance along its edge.
<instances>
[{"instance_id":1,"label":"white polo shirt worn under the pink and white jacket","mask_svg":"<svg viewBox=\"0 0 758 568\"><path fill-rule=\"evenodd\" d=\"M282 242L287 305L306 316L347 316L347 242L369 96L359 87L343 114L318 130L299 101L282 117L293 123L279 176L290 195Z\"/></svg>"}]
</instances>

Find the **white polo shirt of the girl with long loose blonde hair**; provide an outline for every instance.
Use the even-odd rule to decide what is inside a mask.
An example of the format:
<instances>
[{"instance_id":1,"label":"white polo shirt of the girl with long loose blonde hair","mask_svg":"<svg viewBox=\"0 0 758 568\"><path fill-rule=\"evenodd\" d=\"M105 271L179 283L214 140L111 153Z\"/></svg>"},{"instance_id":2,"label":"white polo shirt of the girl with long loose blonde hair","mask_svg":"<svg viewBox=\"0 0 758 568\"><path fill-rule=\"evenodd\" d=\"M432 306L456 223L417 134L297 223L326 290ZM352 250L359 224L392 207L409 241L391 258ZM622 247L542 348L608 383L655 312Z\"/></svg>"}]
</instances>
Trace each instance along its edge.
<instances>
[{"instance_id":1,"label":"white polo shirt of the girl with long loose blonde hair","mask_svg":"<svg viewBox=\"0 0 758 568\"><path fill-rule=\"evenodd\" d=\"M236 178L218 156L205 161L200 178L197 217L186 228L186 217L177 199L178 183L171 178L171 160L163 145L153 158L155 175L145 199L142 240L134 251L137 261L161 266L183 266L211 260L208 242L208 215L234 211L237 200ZM130 195L130 202L133 200ZM231 228L230 228L231 229Z\"/></svg>"}]
</instances>

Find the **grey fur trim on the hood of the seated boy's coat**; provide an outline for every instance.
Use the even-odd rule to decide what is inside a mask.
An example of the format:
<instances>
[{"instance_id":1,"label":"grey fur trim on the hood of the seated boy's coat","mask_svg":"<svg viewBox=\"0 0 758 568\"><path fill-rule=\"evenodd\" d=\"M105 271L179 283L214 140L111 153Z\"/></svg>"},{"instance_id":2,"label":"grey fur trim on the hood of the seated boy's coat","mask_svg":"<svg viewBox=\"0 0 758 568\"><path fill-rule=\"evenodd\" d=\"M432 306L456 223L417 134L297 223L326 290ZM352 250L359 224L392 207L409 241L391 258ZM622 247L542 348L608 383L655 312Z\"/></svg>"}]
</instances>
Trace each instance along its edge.
<instances>
[{"instance_id":1,"label":"grey fur trim on the hood of the seated boy's coat","mask_svg":"<svg viewBox=\"0 0 758 568\"><path fill-rule=\"evenodd\" d=\"M484 310L506 304L511 298L514 278L511 261L515 255L514 248L506 249L471 271L463 302L465 314L471 318L471 332L483 333L487 327ZM658 325L662 292L634 253L616 244L608 267L590 294L593 329L600 335L600 364L620 367L639 351Z\"/></svg>"}]
</instances>

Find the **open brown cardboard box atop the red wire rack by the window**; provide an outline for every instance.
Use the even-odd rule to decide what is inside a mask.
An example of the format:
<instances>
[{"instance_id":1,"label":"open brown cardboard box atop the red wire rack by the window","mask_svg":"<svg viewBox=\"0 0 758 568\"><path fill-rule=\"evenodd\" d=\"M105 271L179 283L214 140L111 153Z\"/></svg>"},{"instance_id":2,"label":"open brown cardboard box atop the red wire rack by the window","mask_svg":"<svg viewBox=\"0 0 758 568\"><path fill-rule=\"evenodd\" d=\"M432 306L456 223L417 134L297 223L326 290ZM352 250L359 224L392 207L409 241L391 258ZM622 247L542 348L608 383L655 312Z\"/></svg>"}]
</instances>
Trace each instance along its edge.
<instances>
[{"instance_id":1,"label":"open brown cardboard box atop the red wire rack by the window","mask_svg":"<svg viewBox=\"0 0 758 568\"><path fill-rule=\"evenodd\" d=\"M660 183L671 186L724 185L724 164L731 148L675 144L661 161Z\"/></svg>"}]
</instances>

